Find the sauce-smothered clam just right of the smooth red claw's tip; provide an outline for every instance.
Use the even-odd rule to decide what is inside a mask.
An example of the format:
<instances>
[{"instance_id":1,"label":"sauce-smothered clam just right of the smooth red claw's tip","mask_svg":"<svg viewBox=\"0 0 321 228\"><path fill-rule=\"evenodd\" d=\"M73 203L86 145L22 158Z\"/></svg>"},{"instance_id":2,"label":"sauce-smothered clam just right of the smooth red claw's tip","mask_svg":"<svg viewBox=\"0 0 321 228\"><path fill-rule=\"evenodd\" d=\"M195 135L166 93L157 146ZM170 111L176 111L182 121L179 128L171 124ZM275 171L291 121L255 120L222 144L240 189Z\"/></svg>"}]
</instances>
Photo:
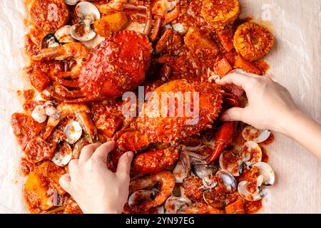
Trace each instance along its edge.
<instances>
[{"instance_id":1,"label":"sauce-smothered clam just right of the smooth red claw's tip","mask_svg":"<svg viewBox=\"0 0 321 228\"><path fill-rule=\"evenodd\" d=\"M220 168L230 172L234 177L240 176L241 165L243 163L240 154L235 151L225 151L220 154Z\"/></svg>"}]
</instances>

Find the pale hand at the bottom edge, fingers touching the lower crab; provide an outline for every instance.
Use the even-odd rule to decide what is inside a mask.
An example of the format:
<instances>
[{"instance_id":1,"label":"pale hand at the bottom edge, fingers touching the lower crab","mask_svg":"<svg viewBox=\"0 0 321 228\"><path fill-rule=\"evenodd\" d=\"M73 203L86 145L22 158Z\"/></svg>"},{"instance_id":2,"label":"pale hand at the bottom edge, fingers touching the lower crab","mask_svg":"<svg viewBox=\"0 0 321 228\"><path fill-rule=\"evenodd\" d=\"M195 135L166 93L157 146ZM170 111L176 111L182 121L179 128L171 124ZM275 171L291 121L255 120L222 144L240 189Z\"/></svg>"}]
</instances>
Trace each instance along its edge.
<instances>
[{"instance_id":1,"label":"pale hand at the bottom edge, fingers touching the lower crab","mask_svg":"<svg viewBox=\"0 0 321 228\"><path fill-rule=\"evenodd\" d=\"M108 153L115 142L83 147L79 160L69 162L69 174L59 182L86 214L121 213L128 199L129 172L133 152L123 154L117 172L108 170Z\"/></svg>"}]
</instances>

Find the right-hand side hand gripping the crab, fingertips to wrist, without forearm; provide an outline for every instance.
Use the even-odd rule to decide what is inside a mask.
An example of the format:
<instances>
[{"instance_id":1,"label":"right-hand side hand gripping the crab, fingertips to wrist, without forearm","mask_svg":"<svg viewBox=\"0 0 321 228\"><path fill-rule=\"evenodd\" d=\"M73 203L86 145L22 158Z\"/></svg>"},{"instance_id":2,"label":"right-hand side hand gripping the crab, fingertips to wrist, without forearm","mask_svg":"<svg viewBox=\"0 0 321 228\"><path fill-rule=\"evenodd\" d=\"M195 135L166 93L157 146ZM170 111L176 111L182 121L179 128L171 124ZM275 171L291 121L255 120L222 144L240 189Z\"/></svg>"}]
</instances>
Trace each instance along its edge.
<instances>
[{"instance_id":1,"label":"right-hand side hand gripping the crab, fingertips to wrist, without forearm","mask_svg":"<svg viewBox=\"0 0 321 228\"><path fill-rule=\"evenodd\" d=\"M223 121L242 121L261 130L285 133L285 120L299 112L289 91L269 77L236 71L219 84L240 86L248 96L248 106L227 110L222 115Z\"/></svg>"}]
</instances>

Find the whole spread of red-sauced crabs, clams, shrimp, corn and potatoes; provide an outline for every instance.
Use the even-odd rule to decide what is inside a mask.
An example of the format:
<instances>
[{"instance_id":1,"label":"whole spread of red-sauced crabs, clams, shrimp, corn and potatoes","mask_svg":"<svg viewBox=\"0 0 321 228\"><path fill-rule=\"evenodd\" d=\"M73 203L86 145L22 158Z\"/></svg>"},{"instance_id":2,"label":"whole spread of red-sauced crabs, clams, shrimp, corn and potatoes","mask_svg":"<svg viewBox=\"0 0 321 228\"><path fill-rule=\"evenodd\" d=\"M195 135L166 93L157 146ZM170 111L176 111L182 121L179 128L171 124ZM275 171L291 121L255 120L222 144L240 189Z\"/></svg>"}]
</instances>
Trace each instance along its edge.
<instances>
[{"instance_id":1,"label":"whole spread of red-sauced crabs, clams, shrimp, corn and potatoes","mask_svg":"<svg viewBox=\"0 0 321 228\"><path fill-rule=\"evenodd\" d=\"M275 180L265 150L273 135L220 120L248 103L220 78L235 69L263 76L273 46L267 28L240 19L238 0L25 1L24 76L32 88L18 91L24 113L11 125L29 212L81 213L58 180L84 146L110 140L113 172L124 152L135 152L123 213L263 207ZM143 93L141 107L128 105L139 100L128 92ZM157 108L154 97L173 103ZM185 111L168 115L170 107ZM197 110L195 121L186 109Z\"/></svg>"}]
</instances>

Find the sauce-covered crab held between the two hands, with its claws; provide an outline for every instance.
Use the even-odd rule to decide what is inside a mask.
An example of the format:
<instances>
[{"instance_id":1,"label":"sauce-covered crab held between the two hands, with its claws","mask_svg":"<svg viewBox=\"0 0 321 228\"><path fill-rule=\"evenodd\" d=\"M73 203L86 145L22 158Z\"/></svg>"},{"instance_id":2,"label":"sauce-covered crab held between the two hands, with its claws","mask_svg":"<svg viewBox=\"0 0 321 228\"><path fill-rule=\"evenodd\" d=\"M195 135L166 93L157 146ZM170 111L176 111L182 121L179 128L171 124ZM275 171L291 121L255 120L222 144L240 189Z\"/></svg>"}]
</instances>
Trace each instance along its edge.
<instances>
[{"instance_id":1,"label":"sauce-covered crab held between the two hands, with its claws","mask_svg":"<svg viewBox=\"0 0 321 228\"><path fill-rule=\"evenodd\" d=\"M167 92L167 93L165 93ZM133 162L133 171L136 173L150 173L164 170L168 165L173 165L178 160L180 140L195 135L200 130L211 128L211 124L218 118L222 110L223 102L227 104L238 103L238 98L234 95L225 93L223 88L208 82L187 82L185 80L170 81L163 86L154 90L152 96L161 97L162 94L167 94L166 99L170 99L170 93L197 93L199 95L199 119L195 124L188 124L190 116L187 113L180 117L169 117L161 115L162 112L168 113L169 108L163 107L161 101L155 101L150 98L143 104L145 113L158 114L158 117L143 115L142 118L137 118L129 128L120 130L115 140L118 148L111 153L115 162L123 152L128 150L138 152L148 145L161 145L161 149L154 149L139 153ZM178 103L193 106L196 102L195 98L189 100L179 100L175 102L175 110L178 110ZM184 98L183 98L184 99ZM156 109L157 105L161 108ZM160 107L160 106L158 106ZM165 110L164 110L165 109ZM157 110L157 111L156 111ZM159 113L155 113L159 112ZM225 123L218 130L215 142L213 155L209 157L208 163L213 162L224 150L226 145L230 143L235 129L234 123ZM167 147L166 147L167 145ZM168 146L169 145L169 146Z\"/></svg>"}]
</instances>

